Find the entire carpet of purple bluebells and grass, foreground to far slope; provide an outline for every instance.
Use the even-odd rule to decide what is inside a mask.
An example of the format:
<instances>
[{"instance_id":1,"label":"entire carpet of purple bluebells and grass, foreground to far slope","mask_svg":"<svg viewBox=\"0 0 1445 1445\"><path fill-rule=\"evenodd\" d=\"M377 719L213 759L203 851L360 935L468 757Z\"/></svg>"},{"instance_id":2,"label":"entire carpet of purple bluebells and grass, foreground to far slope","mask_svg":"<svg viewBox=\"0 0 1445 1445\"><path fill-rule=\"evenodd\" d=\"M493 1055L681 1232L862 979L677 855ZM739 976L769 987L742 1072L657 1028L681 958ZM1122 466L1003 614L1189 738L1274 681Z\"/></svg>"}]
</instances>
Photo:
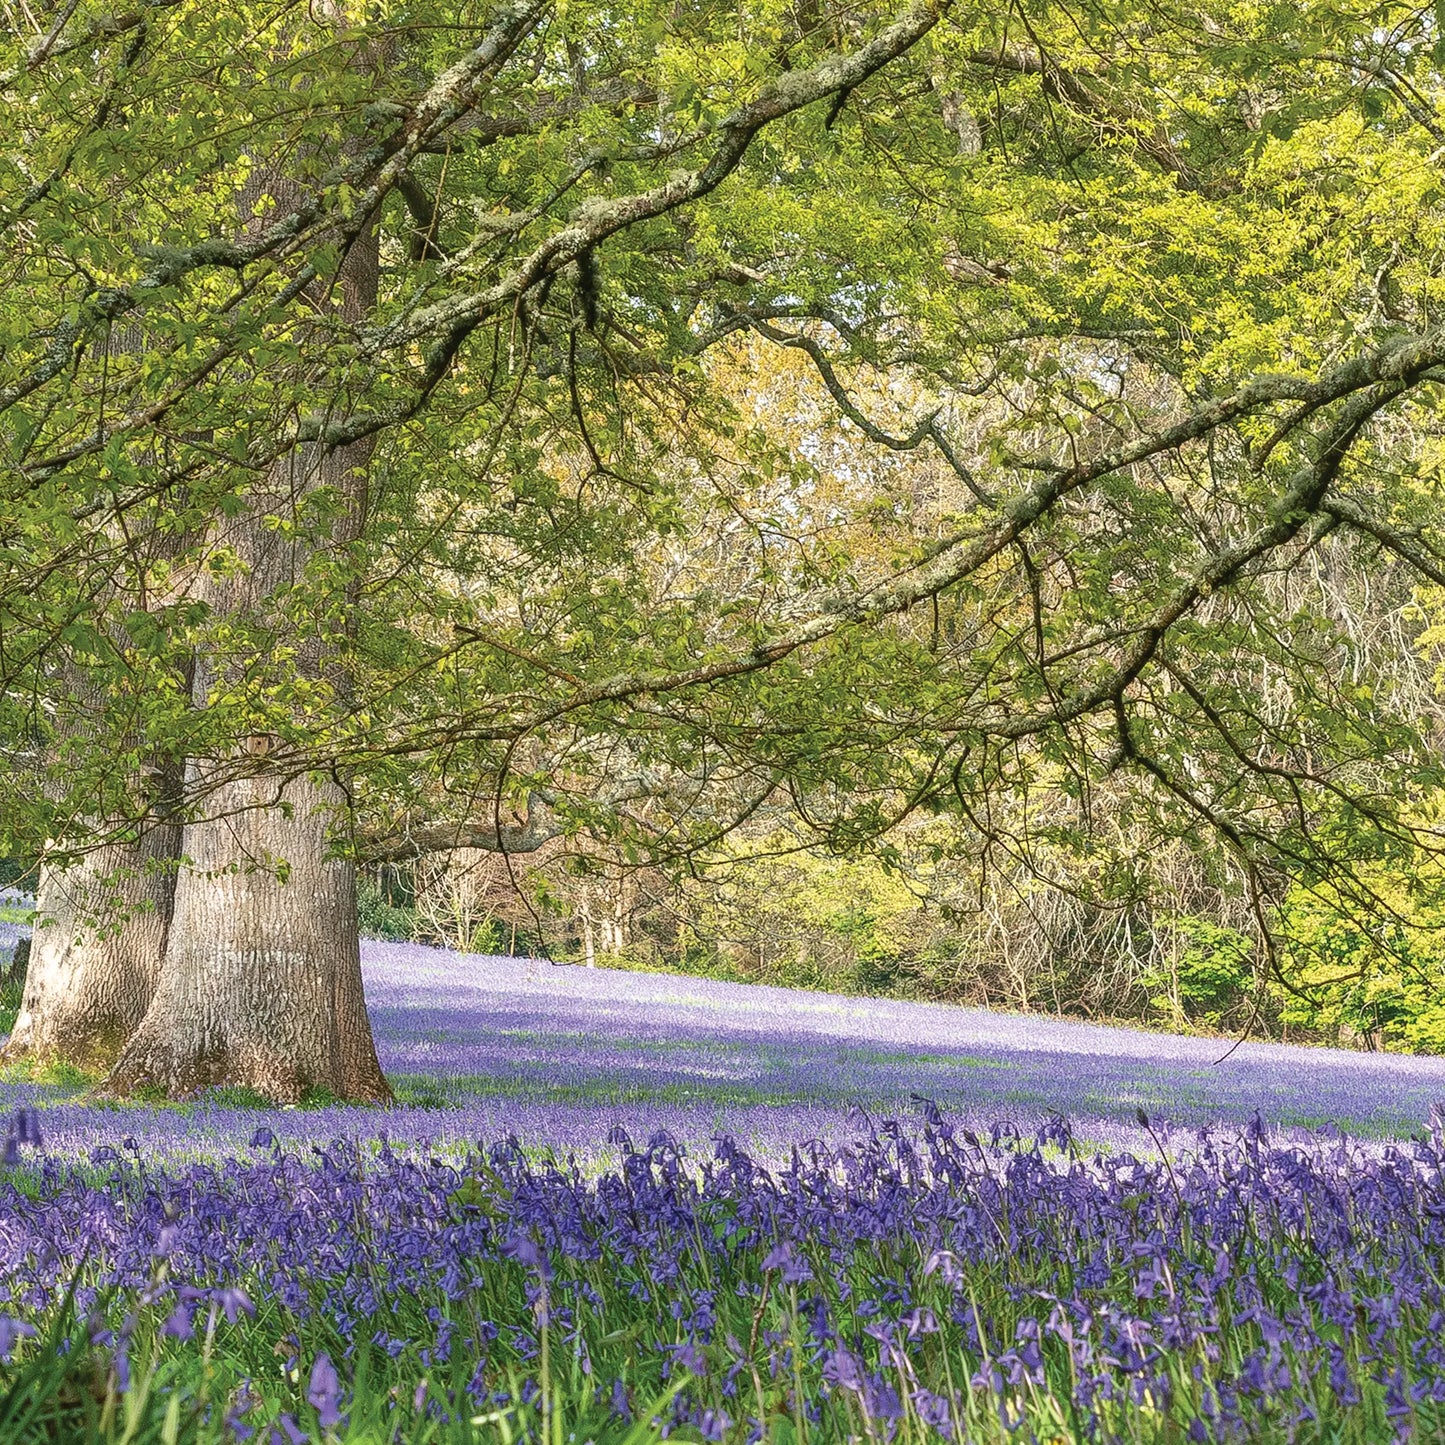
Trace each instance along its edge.
<instances>
[{"instance_id":1,"label":"entire carpet of purple bluebells and grass, foreground to far slope","mask_svg":"<svg viewBox=\"0 0 1445 1445\"><path fill-rule=\"evenodd\" d=\"M394 1110L0 1085L0 1439L1445 1439L1445 1061L366 959Z\"/></svg>"}]
</instances>

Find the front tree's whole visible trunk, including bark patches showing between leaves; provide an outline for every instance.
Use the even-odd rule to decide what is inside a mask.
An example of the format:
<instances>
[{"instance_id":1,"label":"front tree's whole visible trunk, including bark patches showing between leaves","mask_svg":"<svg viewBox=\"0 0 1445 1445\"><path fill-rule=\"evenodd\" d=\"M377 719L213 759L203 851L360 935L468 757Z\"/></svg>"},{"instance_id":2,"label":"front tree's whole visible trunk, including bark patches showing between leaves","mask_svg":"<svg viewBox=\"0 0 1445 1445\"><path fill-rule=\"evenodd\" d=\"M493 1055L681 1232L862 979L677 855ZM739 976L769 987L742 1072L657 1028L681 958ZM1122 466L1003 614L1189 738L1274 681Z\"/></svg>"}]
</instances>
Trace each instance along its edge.
<instances>
[{"instance_id":1,"label":"front tree's whole visible trunk, including bark patches showing between leaves","mask_svg":"<svg viewBox=\"0 0 1445 1445\"><path fill-rule=\"evenodd\" d=\"M259 184L286 189L273 173ZM367 225L341 267L340 318L364 322L376 286L377 236ZM318 312L327 305L318 295ZM345 397L335 406L344 412ZM277 640L293 649L298 673L329 685L342 704L350 682L335 640L319 623L314 636L298 634L301 624L283 617L277 600L303 582L318 546L348 549L360 538L370 457L368 441L303 448L273 468L251 490L246 514L218 525L218 540L244 569L211 584L208 598L218 617L292 629ZM298 523L321 486L345 503L328 536L308 539L305 525L269 525ZM241 666L243 659L198 659L197 704L205 705L218 675ZM217 782L217 766L234 770L237 759L192 764L191 793L205 798L204 814L186 824L186 866L155 997L107 1079L108 1092L156 1088L179 1097L233 1085L279 1103L308 1090L345 1100L392 1097L361 993L355 870L332 848L347 831L348 798L332 777L267 773L267 747L266 737L250 740L250 777Z\"/></svg>"}]
</instances>

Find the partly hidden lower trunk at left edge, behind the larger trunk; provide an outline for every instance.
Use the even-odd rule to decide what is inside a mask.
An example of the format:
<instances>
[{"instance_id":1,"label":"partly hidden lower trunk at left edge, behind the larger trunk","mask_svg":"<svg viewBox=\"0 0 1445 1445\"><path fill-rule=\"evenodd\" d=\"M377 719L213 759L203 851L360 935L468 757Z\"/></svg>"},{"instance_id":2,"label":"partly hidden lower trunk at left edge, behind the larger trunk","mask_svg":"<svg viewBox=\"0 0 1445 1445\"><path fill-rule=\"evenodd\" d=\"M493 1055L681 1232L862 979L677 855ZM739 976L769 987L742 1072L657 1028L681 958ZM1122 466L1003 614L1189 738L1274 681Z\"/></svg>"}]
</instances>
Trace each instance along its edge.
<instances>
[{"instance_id":1,"label":"partly hidden lower trunk at left edge, behind the larger trunk","mask_svg":"<svg viewBox=\"0 0 1445 1445\"><path fill-rule=\"evenodd\" d=\"M20 1013L4 1058L105 1069L144 1017L175 897L181 829L43 866Z\"/></svg>"}]
</instances>

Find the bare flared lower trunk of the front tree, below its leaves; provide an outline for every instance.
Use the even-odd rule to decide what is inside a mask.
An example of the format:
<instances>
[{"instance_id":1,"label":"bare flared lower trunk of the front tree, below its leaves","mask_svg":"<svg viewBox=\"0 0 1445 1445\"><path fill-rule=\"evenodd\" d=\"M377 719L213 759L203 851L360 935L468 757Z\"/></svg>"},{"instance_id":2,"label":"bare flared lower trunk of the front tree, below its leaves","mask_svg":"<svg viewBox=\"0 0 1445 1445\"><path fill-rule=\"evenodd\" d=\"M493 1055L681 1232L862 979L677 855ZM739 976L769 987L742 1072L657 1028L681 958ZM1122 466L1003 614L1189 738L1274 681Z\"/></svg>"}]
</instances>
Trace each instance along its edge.
<instances>
[{"instance_id":1,"label":"bare flared lower trunk of the front tree, below its leaves","mask_svg":"<svg viewBox=\"0 0 1445 1445\"><path fill-rule=\"evenodd\" d=\"M328 857L341 789L301 777L277 798L256 777L211 802L211 816L186 828L160 981L107 1088L390 1098L361 998L355 873Z\"/></svg>"}]
</instances>

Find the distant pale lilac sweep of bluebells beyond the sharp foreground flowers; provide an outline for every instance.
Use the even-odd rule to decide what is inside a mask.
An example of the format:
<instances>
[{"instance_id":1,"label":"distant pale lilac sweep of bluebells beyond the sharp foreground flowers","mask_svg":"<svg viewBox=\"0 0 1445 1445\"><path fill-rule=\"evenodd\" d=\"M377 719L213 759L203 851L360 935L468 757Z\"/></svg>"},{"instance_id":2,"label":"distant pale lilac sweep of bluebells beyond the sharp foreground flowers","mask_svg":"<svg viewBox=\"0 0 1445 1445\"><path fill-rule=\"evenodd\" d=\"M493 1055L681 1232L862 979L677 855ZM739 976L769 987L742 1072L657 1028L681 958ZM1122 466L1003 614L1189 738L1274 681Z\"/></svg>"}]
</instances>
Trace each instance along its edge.
<instances>
[{"instance_id":1,"label":"distant pale lilac sweep of bluebells beyond the sharp foreground flowers","mask_svg":"<svg viewBox=\"0 0 1445 1445\"><path fill-rule=\"evenodd\" d=\"M1224 1045L1130 1029L708 980L553 967L367 942L367 997L399 1107L290 1111L201 1100L186 1111L97 1108L65 1091L0 1085L0 1110L43 1114L51 1153L88 1157L134 1139L150 1159L374 1139L420 1152L516 1133L533 1146L616 1159L614 1127L691 1147L720 1133L783 1162L799 1139L838 1143L871 1117L938 1101L961 1127L1000 1123L1048 1142L1153 1152L1137 1113L1169 1127L1286 1137L1322 1126L1403 1139L1445 1097L1445 1059ZM26 1129L39 1123L26 1116ZM1062 1120L1068 1120L1068 1126ZM117 1124L123 1120L121 1127ZM17 1150L22 1143L14 1131ZM10 1157L7 1155L7 1157ZM13 1160L12 1160L13 1162Z\"/></svg>"}]
</instances>

